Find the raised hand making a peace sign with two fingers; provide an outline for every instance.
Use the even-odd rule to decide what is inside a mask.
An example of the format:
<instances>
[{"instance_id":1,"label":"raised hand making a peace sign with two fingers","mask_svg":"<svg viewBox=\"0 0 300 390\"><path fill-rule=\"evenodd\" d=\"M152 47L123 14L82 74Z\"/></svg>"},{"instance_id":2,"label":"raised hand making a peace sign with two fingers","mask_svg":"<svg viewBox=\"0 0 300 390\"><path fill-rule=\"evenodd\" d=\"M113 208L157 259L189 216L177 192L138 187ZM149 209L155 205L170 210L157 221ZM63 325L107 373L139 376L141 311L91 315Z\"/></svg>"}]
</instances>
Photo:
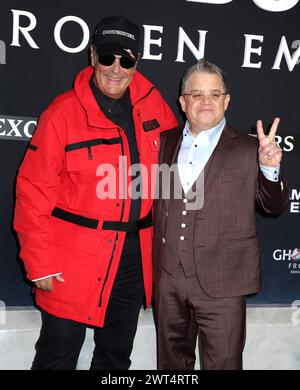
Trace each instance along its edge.
<instances>
[{"instance_id":1,"label":"raised hand making a peace sign with two fingers","mask_svg":"<svg viewBox=\"0 0 300 390\"><path fill-rule=\"evenodd\" d=\"M257 121L256 131L259 142L258 161L267 167L277 167L282 159L282 150L275 142L275 135L280 118L275 118L271 126L269 135L264 133L261 120Z\"/></svg>"}]
</instances>

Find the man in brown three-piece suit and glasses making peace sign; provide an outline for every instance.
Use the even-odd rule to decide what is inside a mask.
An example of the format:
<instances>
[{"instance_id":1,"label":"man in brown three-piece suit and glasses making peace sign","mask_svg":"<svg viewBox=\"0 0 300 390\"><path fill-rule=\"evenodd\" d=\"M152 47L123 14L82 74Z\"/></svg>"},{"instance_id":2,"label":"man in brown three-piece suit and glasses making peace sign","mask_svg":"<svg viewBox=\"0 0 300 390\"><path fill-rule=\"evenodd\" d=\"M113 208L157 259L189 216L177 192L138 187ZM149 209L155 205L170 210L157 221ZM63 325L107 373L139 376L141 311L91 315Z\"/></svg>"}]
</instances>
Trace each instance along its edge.
<instances>
[{"instance_id":1,"label":"man in brown three-piece suit and glasses making peace sign","mask_svg":"<svg viewBox=\"0 0 300 390\"><path fill-rule=\"evenodd\" d=\"M160 163L176 167L171 187L177 175L183 197L155 206L158 368L193 369L199 334L202 368L242 369L245 296L260 288L255 209L278 214L288 202L279 118L269 135L258 121L257 138L228 126L224 74L205 59L185 74L179 100L187 123L161 135Z\"/></svg>"}]
</instances>

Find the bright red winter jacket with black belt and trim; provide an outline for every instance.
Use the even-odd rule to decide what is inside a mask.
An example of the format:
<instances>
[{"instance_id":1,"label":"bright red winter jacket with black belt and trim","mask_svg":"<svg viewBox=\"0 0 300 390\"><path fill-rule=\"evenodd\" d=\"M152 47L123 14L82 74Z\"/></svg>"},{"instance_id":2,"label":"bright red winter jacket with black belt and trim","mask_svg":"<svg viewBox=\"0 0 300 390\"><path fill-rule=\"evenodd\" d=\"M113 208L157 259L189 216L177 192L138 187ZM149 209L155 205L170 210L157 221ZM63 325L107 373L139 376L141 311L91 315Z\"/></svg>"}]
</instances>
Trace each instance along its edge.
<instances>
[{"instance_id":1,"label":"bright red winter jacket with black belt and trim","mask_svg":"<svg viewBox=\"0 0 300 390\"><path fill-rule=\"evenodd\" d=\"M115 168L115 178L108 185L122 194L130 153L123 129L99 109L89 86L92 73L92 67L83 69L74 89L58 96L41 115L19 169L14 227L28 278L62 273L65 279L54 278L51 292L36 289L37 304L58 317L103 326L126 233L102 230L102 222L128 221L130 198L99 199L97 185L103 176L97 167L111 164ZM139 72L129 88L140 163L147 168L142 170L143 218L152 208L150 172L151 164L157 164L160 132L176 127L177 121L157 89ZM127 158L127 167L121 156ZM98 220L98 226L92 229L57 218L52 215L54 208ZM152 235L152 227L140 230L148 305Z\"/></svg>"}]
</instances>

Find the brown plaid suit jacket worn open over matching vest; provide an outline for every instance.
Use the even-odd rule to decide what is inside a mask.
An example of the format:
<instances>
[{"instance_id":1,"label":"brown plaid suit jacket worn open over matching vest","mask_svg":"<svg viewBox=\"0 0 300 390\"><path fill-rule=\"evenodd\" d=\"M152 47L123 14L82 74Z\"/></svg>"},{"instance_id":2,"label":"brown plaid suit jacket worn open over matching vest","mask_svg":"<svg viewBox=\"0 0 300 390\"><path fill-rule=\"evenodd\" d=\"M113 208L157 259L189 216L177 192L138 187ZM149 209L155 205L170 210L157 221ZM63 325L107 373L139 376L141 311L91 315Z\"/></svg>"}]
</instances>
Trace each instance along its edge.
<instances>
[{"instance_id":1,"label":"brown plaid suit jacket worn open over matching vest","mask_svg":"<svg viewBox=\"0 0 300 390\"><path fill-rule=\"evenodd\" d=\"M161 134L160 163L177 160L182 129ZM260 261L256 232L256 208L279 214L288 203L288 187L265 178L258 166L258 142L225 126L209 169L204 170L204 207L194 229L196 271L202 288L212 297L241 296L260 288ZM153 272L159 283L168 271L168 250L163 241L168 223L166 199L155 202ZM168 243L172 245L172 243ZM192 259L193 261L193 259Z\"/></svg>"}]
</instances>

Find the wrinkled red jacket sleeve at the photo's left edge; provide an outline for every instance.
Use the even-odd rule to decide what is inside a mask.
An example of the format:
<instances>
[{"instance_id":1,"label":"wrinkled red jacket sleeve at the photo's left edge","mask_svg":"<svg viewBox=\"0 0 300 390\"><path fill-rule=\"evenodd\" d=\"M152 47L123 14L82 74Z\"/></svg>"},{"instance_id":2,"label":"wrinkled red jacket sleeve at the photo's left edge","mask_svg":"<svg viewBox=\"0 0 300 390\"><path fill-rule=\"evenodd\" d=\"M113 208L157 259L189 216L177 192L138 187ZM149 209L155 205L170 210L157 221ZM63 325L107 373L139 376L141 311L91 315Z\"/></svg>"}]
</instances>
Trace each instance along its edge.
<instances>
[{"instance_id":1,"label":"wrinkled red jacket sleeve at the photo's left edge","mask_svg":"<svg viewBox=\"0 0 300 390\"><path fill-rule=\"evenodd\" d=\"M64 158L63 123L59 114L42 114L17 176L14 228L30 280L60 272L50 215L56 205Z\"/></svg>"}]
</instances>

